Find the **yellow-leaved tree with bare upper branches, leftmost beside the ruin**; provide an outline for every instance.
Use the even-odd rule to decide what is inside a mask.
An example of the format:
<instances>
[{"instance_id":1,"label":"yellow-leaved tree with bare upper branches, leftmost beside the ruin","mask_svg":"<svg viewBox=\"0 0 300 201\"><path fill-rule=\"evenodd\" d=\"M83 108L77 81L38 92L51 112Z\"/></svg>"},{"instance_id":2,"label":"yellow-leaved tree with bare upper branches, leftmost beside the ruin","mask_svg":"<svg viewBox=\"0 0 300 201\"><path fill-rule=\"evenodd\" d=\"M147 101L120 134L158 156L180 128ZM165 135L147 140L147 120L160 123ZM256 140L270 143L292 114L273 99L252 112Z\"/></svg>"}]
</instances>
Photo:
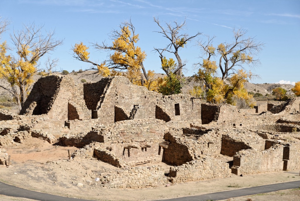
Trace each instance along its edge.
<instances>
[{"instance_id":1,"label":"yellow-leaved tree with bare upper branches, leftmost beside the ruin","mask_svg":"<svg viewBox=\"0 0 300 201\"><path fill-rule=\"evenodd\" d=\"M0 26L4 26L2 30L5 30L7 25L7 22L0 23ZM39 59L62 44L62 40L53 38L54 32L48 32L43 36L42 29L43 26L35 26L32 23L29 26L24 25L22 30L14 31L10 38L16 54L8 54L10 48L6 41L0 44L0 78L9 83L9 86L0 87L13 95L19 110L29 94L32 76L39 70Z\"/></svg>"}]
</instances>

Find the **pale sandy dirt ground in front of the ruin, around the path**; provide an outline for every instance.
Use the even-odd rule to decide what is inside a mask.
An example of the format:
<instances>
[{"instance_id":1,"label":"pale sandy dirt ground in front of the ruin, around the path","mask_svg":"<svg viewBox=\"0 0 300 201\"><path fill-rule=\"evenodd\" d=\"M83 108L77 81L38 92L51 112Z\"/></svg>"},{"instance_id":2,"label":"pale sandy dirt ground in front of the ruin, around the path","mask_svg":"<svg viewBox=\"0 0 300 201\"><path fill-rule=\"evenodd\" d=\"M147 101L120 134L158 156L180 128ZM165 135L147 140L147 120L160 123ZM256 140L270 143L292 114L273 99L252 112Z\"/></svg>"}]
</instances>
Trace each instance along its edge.
<instances>
[{"instance_id":1,"label":"pale sandy dirt ground in front of the ruin, around the path","mask_svg":"<svg viewBox=\"0 0 300 201\"><path fill-rule=\"evenodd\" d=\"M109 174L117 168L97 159L81 161L67 161L67 150L76 147L60 147L46 141L32 138L15 147L5 148L11 156L10 167L1 165L0 181L29 190L40 191L60 196L76 197L93 200L155 200L183 196L201 195L237 188L246 188L266 184L275 184L300 179L298 170L291 172L277 172L271 174L232 175L228 178L205 181L191 181L174 184L169 187L153 187L142 189L107 189L95 182L95 177L101 173ZM158 165L158 164L155 164ZM166 169L167 165L161 163ZM297 173L297 174L296 174ZM90 182L92 181L92 182ZM82 183L82 187L77 187ZM98 185L97 185L98 184ZM236 186L236 187L228 187ZM254 196L231 198L227 200L300 200L300 190L283 190ZM24 200L0 195L0 200Z\"/></svg>"}]
</instances>

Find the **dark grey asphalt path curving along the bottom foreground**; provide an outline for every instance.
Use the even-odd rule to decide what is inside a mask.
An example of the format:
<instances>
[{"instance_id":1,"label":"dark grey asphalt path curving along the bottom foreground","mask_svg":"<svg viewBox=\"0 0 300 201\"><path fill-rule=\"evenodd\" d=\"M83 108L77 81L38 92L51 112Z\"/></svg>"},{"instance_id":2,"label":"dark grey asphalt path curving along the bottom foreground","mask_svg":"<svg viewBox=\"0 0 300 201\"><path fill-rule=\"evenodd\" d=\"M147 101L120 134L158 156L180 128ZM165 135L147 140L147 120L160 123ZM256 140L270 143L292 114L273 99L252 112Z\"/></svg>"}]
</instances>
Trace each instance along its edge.
<instances>
[{"instance_id":1,"label":"dark grey asphalt path curving along the bottom foreground","mask_svg":"<svg viewBox=\"0 0 300 201\"><path fill-rule=\"evenodd\" d=\"M173 199L160 199L157 201L206 201L206 200L222 200L232 197L248 196L259 193L270 193L277 190L286 190L298 188L300 181L291 181L279 184L270 184L264 186L256 186L250 188L242 188L237 190L228 190L217 193L208 193L197 196L188 196ZM86 201L86 199L76 199L69 197L62 197L57 195L51 195L47 193L36 192L32 190L26 190L19 187L11 186L0 182L0 194L12 197L23 197L28 199L42 200L42 201ZM91 200L90 200L91 201Z\"/></svg>"}]
</instances>

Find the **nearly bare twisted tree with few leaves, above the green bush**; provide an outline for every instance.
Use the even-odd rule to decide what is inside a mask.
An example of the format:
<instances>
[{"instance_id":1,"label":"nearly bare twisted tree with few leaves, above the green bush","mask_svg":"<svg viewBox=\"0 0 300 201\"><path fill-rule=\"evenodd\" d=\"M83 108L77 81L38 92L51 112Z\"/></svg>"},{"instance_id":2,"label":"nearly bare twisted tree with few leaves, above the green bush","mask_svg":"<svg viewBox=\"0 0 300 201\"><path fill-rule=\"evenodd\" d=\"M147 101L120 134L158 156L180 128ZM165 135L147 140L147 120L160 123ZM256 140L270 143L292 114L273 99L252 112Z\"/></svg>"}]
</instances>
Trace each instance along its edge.
<instances>
[{"instance_id":1,"label":"nearly bare twisted tree with few leaves, above the green bush","mask_svg":"<svg viewBox=\"0 0 300 201\"><path fill-rule=\"evenodd\" d=\"M182 30L186 28L185 20L182 23L178 23L177 21L174 21L173 24L166 23L167 26L166 28L161 25L158 18L154 17L154 21L161 28L161 31L155 31L155 32L161 33L163 37L167 38L170 41L170 43L165 48L154 48L154 50L160 54L159 57L161 58L161 60L164 58L164 54L163 54L164 51L174 54L178 64L173 73L182 76L182 67L185 64L182 62L182 59L179 56L178 51L180 48L183 48L188 41L191 41L193 38L199 36L202 33L198 32L196 35L193 36L189 36L187 33L180 33ZM166 73L168 75L169 72Z\"/></svg>"}]
</instances>

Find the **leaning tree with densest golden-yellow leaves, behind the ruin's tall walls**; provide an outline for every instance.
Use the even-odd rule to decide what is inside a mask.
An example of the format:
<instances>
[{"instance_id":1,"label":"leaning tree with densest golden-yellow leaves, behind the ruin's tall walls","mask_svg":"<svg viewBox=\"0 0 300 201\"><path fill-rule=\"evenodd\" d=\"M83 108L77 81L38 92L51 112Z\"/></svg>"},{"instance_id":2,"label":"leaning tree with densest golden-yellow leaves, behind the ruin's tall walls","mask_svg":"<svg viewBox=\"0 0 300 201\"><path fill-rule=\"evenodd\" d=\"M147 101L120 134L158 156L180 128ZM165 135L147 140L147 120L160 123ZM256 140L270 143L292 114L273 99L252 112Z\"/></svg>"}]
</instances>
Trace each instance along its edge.
<instances>
[{"instance_id":1,"label":"leaning tree with densest golden-yellow leaves, behind the ruin's tall walls","mask_svg":"<svg viewBox=\"0 0 300 201\"><path fill-rule=\"evenodd\" d=\"M152 73L146 72L143 61L146 59L145 51L142 51L136 43L139 35L135 33L135 28L131 21L121 23L120 30L113 30L110 33L111 45L102 43L91 43L91 46L98 50L109 51L109 59L102 63L95 63L89 60L88 47L82 42L72 47L73 57L77 60L91 63L101 76L124 75L133 84L144 85L148 89L154 89L157 86L154 82ZM143 75L142 72L143 71ZM126 71L126 73L121 73ZM152 76L152 77L151 77ZM151 78L149 78L151 77Z\"/></svg>"}]
</instances>

